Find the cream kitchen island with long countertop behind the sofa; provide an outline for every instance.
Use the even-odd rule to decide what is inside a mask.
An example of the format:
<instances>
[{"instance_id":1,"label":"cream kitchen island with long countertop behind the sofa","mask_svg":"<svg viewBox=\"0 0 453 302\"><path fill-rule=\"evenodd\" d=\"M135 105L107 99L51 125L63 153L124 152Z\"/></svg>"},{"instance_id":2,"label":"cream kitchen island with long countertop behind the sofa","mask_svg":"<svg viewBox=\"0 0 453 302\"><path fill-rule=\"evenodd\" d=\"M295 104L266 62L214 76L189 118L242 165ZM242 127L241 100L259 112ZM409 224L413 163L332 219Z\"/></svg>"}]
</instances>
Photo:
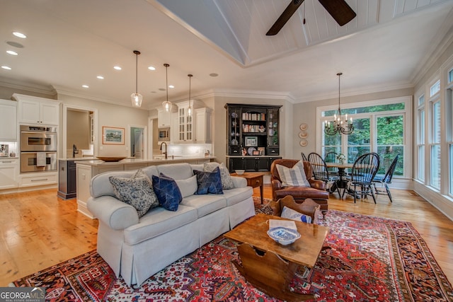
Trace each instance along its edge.
<instances>
[{"instance_id":1,"label":"cream kitchen island with long countertop behind the sofa","mask_svg":"<svg viewBox=\"0 0 453 302\"><path fill-rule=\"evenodd\" d=\"M208 163L214 161L214 156L185 157L168 156L168 158L142 159L125 158L122 161L105 162L101 160L75 161L76 163L76 196L77 211L94 218L93 214L86 208L86 202L90 197L90 182L95 175L118 170L137 170L148 165L162 165L164 163Z\"/></svg>"}]
</instances>

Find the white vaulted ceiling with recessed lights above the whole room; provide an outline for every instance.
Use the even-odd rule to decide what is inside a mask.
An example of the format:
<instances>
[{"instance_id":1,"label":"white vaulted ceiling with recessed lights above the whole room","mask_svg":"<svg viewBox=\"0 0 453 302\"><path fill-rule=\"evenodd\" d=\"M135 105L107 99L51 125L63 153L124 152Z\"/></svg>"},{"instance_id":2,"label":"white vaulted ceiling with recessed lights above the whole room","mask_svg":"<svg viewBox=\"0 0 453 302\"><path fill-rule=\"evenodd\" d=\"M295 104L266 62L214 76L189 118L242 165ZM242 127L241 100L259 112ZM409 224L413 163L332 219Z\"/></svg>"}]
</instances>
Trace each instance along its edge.
<instances>
[{"instance_id":1,"label":"white vaulted ceiling with recessed lights above the whole room","mask_svg":"<svg viewBox=\"0 0 453 302\"><path fill-rule=\"evenodd\" d=\"M2 1L0 65L11 70L0 69L0 85L130 105L139 50L144 109L166 97L164 63L175 86L170 100L188 98L193 74L195 97L215 91L300 103L334 97L339 71L342 94L411 87L453 38L452 0L347 0L357 17L344 26L306 0L280 33L265 35L289 2Z\"/></svg>"}]
</instances>

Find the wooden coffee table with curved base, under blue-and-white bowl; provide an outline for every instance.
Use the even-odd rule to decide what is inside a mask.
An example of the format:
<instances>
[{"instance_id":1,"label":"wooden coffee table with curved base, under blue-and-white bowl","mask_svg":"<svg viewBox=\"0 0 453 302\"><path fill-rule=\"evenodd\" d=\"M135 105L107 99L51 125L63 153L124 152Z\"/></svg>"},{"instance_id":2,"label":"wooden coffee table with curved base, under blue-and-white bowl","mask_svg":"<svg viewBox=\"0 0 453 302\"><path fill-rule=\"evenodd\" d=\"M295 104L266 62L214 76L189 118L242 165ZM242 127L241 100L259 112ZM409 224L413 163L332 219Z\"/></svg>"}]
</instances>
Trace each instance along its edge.
<instances>
[{"instance_id":1,"label":"wooden coffee table with curved base, under blue-and-white bowl","mask_svg":"<svg viewBox=\"0 0 453 302\"><path fill-rule=\"evenodd\" d=\"M242 243L238 245L242 264L234 262L234 265L248 282L269 296L285 301L314 298L290 291L289 282L299 265L314 267L328 227L295 221L301 238L289 245L280 245L268 236L269 219L282 218L258 214L224 234Z\"/></svg>"}]
</instances>

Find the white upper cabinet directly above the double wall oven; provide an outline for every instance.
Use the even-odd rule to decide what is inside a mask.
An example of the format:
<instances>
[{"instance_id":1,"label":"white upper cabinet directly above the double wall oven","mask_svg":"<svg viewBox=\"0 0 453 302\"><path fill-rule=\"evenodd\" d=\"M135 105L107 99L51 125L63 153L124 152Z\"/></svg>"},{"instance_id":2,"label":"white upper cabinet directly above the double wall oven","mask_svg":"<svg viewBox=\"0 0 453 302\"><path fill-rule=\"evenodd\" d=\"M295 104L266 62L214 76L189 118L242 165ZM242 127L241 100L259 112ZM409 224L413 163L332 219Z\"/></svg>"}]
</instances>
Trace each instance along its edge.
<instances>
[{"instance_id":1,"label":"white upper cabinet directly above the double wall oven","mask_svg":"<svg viewBox=\"0 0 453 302\"><path fill-rule=\"evenodd\" d=\"M31 95L13 94L18 100L18 122L21 124L59 124L60 102Z\"/></svg>"}]
</instances>

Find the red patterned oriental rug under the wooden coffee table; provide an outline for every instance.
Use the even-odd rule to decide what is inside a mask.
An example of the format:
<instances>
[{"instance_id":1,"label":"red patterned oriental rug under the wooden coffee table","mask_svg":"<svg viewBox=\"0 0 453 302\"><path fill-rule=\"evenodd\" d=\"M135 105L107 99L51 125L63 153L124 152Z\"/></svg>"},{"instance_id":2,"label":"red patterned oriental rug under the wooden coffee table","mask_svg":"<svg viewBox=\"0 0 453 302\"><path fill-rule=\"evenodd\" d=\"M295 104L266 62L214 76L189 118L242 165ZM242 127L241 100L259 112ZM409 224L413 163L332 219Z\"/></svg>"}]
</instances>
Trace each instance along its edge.
<instances>
[{"instance_id":1,"label":"red patterned oriental rug under the wooden coffee table","mask_svg":"<svg viewBox=\"0 0 453 302\"><path fill-rule=\"evenodd\" d=\"M330 228L329 248L312 269L299 267L292 291L314 294L313 301L453 301L452 285L411 223L329 210L319 224ZM137 289L96 250L12 285L45 286L46 301L278 301L231 263L239 259L236 244L219 236Z\"/></svg>"}]
</instances>

